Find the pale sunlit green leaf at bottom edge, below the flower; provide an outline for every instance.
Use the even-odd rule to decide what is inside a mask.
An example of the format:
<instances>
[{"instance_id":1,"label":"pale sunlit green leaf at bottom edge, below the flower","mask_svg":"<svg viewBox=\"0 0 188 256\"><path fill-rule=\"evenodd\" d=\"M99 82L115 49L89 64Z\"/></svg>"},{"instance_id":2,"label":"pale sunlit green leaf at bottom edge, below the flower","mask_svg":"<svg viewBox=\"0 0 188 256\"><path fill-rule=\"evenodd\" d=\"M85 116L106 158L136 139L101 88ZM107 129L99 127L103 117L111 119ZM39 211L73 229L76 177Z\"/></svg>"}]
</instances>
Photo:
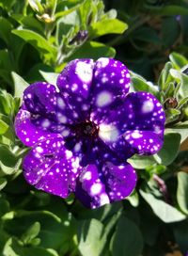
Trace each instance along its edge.
<instances>
[{"instance_id":1,"label":"pale sunlit green leaf at bottom edge, below the flower","mask_svg":"<svg viewBox=\"0 0 188 256\"><path fill-rule=\"evenodd\" d=\"M102 222L95 218L78 222L78 248L83 256L96 256L102 253L106 243L106 237L102 236L102 232Z\"/></svg>"}]
</instances>

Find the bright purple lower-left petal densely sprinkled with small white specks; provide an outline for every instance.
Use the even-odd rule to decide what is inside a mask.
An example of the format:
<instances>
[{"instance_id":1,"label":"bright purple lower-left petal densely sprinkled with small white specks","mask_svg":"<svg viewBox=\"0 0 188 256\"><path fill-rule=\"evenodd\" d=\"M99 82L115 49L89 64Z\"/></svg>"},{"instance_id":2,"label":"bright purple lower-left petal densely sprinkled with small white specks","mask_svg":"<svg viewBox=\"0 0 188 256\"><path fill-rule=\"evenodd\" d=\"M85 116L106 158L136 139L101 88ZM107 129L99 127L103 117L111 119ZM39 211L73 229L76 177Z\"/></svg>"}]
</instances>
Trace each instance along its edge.
<instances>
[{"instance_id":1,"label":"bright purple lower-left petal densely sprinkled with small white specks","mask_svg":"<svg viewBox=\"0 0 188 256\"><path fill-rule=\"evenodd\" d=\"M24 158L24 177L29 184L66 198L74 190L80 165L64 147L62 138L39 142Z\"/></svg>"}]
</instances>

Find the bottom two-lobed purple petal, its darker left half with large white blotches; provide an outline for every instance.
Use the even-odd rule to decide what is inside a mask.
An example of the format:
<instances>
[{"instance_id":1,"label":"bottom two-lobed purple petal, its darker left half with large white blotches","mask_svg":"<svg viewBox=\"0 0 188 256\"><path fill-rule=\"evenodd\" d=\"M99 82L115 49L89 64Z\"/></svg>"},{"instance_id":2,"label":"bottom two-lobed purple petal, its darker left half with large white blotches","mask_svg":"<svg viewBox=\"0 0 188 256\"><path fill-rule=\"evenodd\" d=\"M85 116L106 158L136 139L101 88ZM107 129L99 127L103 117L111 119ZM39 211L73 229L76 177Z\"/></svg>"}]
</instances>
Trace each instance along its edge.
<instances>
[{"instance_id":1,"label":"bottom two-lobed purple petal, its darker left half with large white blotches","mask_svg":"<svg viewBox=\"0 0 188 256\"><path fill-rule=\"evenodd\" d=\"M110 162L102 168L88 165L76 186L76 197L87 207L97 208L129 196L136 184L136 174L129 164L115 166Z\"/></svg>"}]
</instances>

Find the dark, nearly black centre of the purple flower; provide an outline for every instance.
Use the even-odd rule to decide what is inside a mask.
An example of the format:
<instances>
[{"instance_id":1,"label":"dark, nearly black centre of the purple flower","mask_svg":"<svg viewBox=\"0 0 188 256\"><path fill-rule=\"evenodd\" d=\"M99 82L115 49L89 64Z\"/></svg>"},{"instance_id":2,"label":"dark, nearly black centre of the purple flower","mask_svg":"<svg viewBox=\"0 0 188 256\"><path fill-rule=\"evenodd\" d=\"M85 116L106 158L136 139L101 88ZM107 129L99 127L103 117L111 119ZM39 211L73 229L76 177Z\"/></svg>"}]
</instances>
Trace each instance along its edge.
<instances>
[{"instance_id":1,"label":"dark, nearly black centre of the purple flower","mask_svg":"<svg viewBox=\"0 0 188 256\"><path fill-rule=\"evenodd\" d=\"M99 134L99 127L97 124L91 120L86 120L86 122L80 122L73 127L76 136L92 136L97 137Z\"/></svg>"}]
</instances>

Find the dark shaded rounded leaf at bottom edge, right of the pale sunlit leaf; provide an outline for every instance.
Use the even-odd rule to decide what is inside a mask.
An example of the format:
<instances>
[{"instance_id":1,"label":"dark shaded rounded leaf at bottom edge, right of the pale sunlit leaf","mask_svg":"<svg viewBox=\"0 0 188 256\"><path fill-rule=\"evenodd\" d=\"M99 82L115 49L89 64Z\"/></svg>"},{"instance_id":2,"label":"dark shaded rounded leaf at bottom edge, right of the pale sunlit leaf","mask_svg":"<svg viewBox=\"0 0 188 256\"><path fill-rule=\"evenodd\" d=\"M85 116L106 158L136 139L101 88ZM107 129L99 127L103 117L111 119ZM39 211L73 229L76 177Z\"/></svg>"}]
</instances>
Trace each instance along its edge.
<instances>
[{"instance_id":1,"label":"dark shaded rounded leaf at bottom edge, right of the pale sunlit leaf","mask_svg":"<svg viewBox=\"0 0 188 256\"><path fill-rule=\"evenodd\" d=\"M117 230L110 241L113 256L139 256L142 253L144 241L141 232L132 220L121 216Z\"/></svg>"}]
</instances>

